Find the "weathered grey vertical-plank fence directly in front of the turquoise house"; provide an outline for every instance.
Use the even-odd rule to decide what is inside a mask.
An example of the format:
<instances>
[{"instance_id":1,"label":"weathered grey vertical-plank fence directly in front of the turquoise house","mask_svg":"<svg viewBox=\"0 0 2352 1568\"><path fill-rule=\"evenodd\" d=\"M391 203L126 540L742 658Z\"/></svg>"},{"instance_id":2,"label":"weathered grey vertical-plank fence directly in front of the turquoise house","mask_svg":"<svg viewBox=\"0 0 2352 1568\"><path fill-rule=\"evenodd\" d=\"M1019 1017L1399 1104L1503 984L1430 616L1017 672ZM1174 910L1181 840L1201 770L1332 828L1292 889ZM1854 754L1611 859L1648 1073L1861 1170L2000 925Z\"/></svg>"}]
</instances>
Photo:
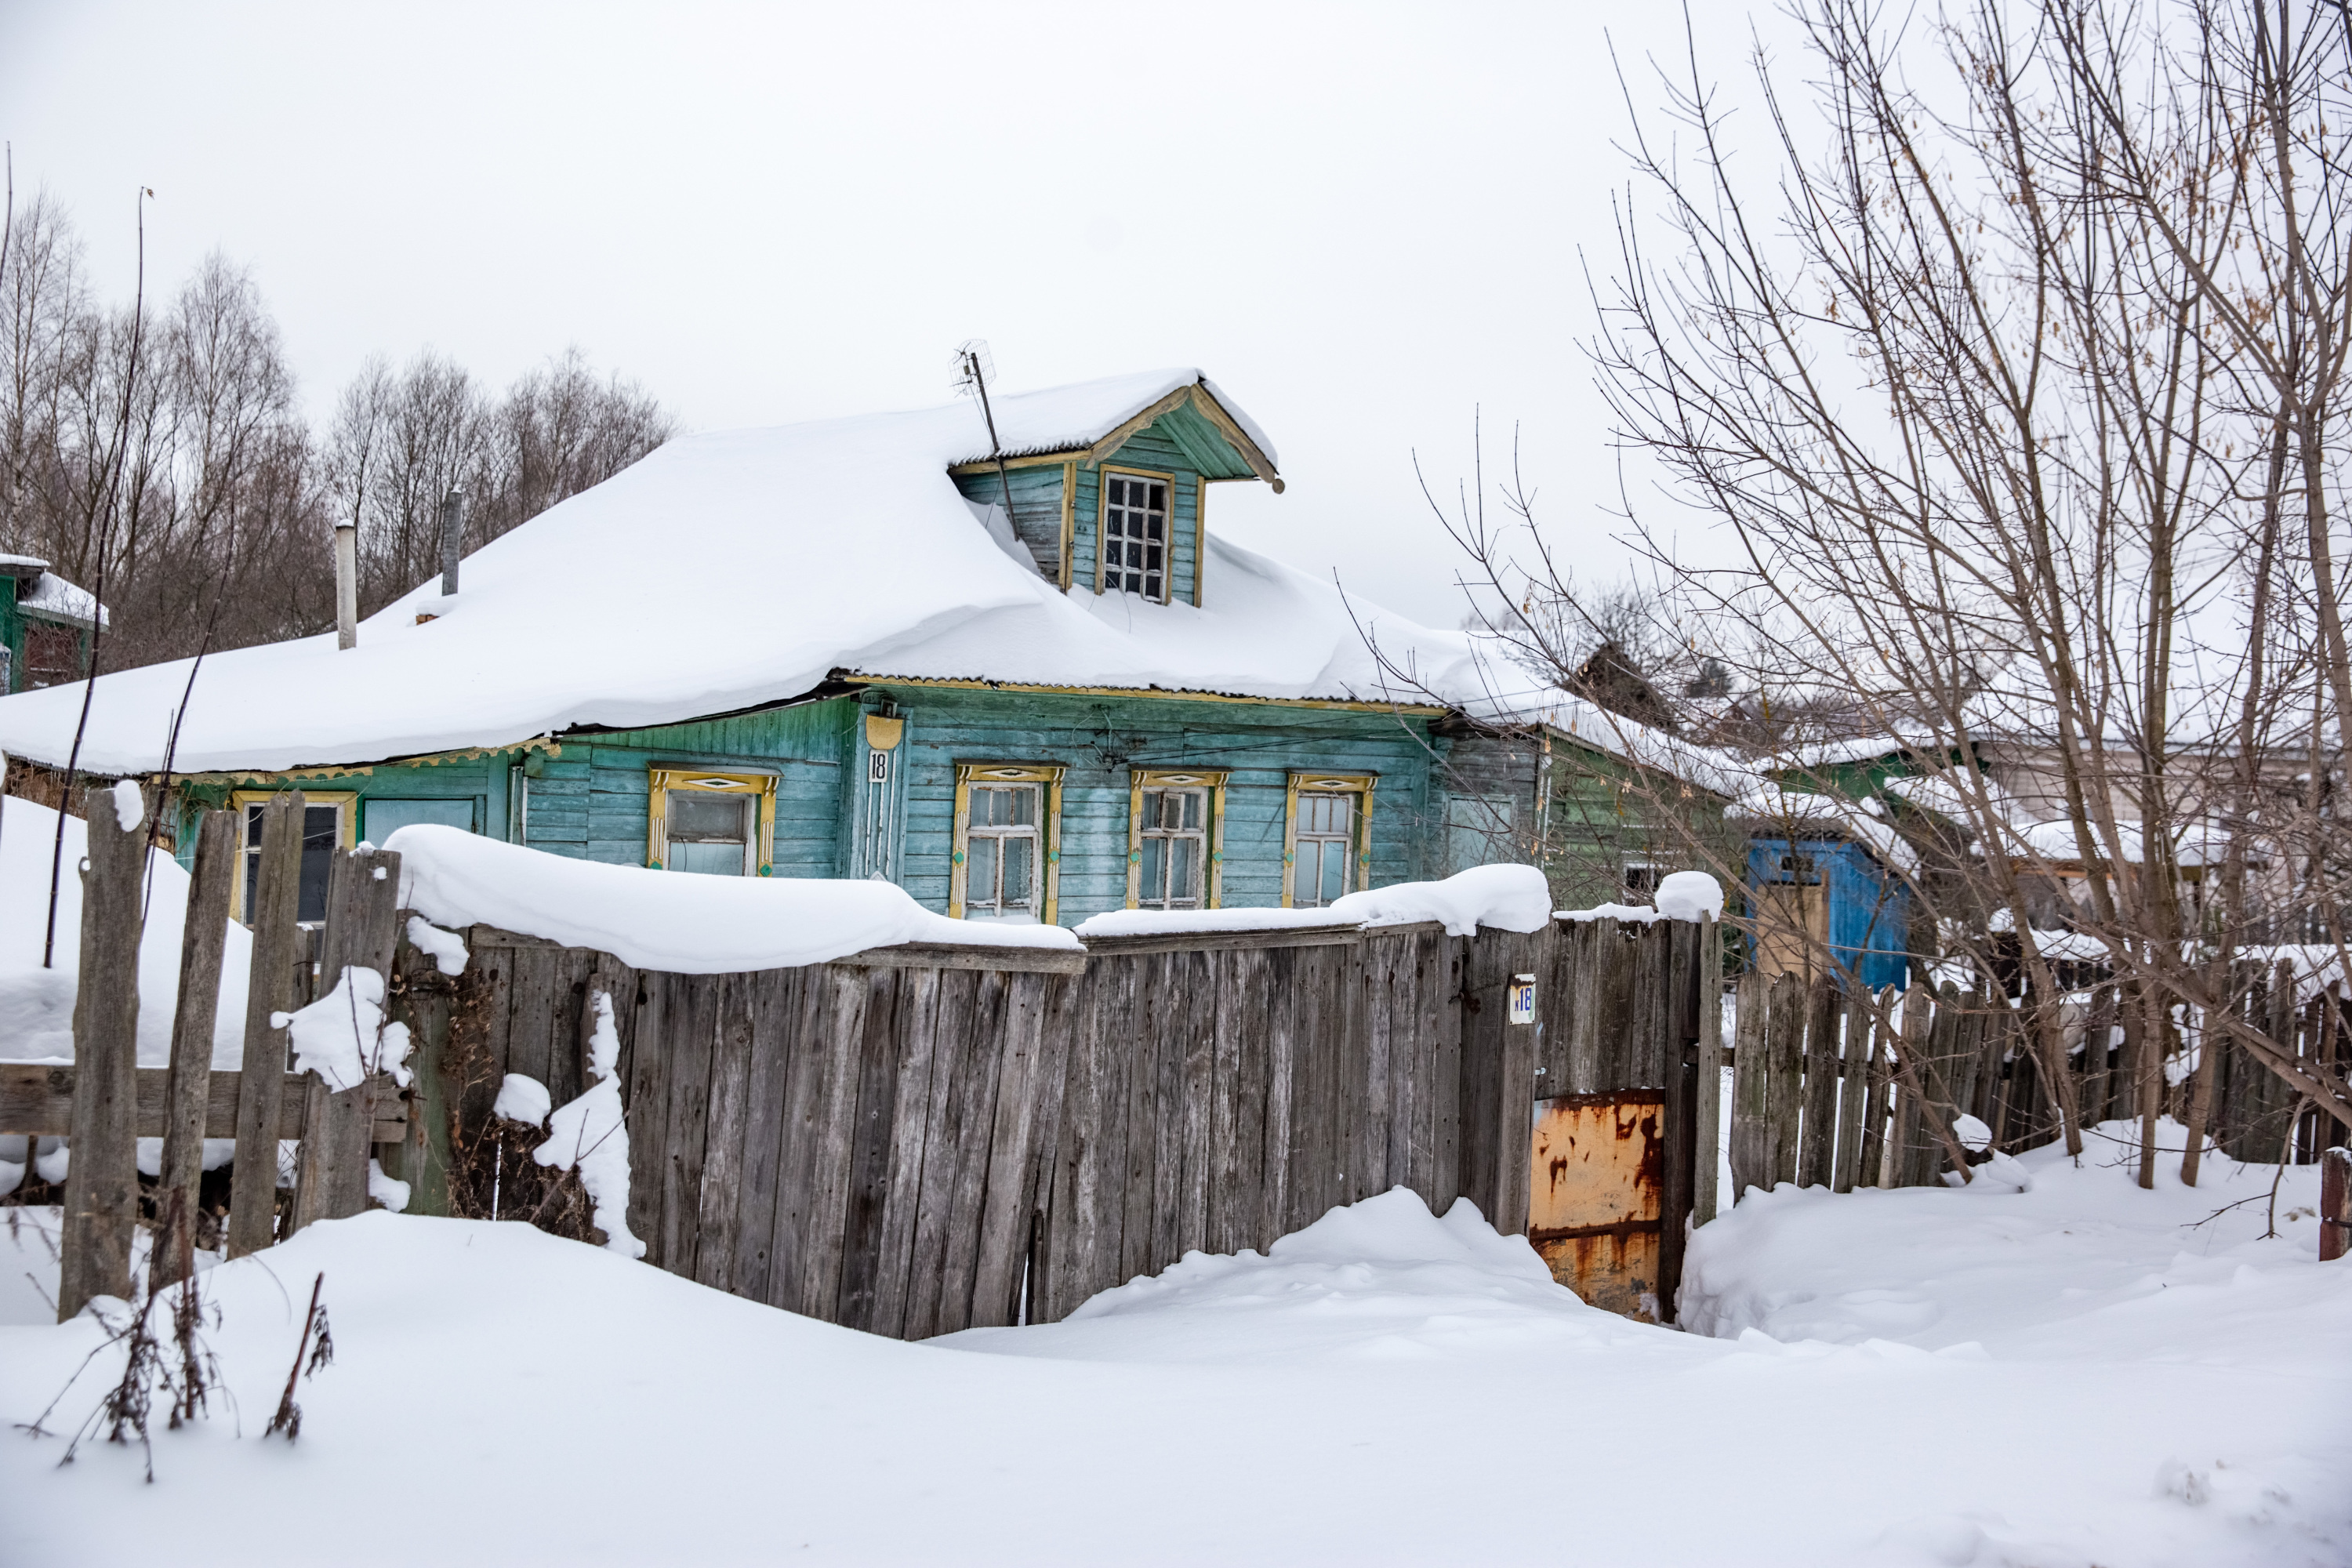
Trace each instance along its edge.
<instances>
[{"instance_id":1,"label":"weathered grey vertical-plank fence directly in front of the turquoise house","mask_svg":"<svg viewBox=\"0 0 2352 1568\"><path fill-rule=\"evenodd\" d=\"M1670 1312L1691 1150L1712 1147L1693 1119L1712 1110L1693 1093L1708 945L1682 922L922 947L734 976L466 936L456 980L402 950L426 1105L379 1154L414 1208L534 1192L529 1138L492 1117L499 1084L583 1091L604 992L647 1260L898 1338L1051 1321L1397 1185L1524 1232L1529 1121L1555 1088L1668 1107L1653 1213L1632 1222L1663 1272L1642 1293ZM1510 1023L1512 976L1536 976L1529 1025Z\"/></svg>"}]
</instances>

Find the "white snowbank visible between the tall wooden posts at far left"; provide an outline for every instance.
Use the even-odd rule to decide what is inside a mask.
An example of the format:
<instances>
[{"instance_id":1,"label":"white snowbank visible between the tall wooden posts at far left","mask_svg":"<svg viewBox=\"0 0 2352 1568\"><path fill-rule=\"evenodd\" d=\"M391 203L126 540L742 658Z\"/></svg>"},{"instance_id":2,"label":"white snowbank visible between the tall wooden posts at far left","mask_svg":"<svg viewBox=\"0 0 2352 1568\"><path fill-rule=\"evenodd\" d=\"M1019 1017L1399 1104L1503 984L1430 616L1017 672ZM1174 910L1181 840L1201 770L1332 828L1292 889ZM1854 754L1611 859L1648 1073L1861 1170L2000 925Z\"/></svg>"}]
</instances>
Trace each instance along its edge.
<instances>
[{"instance_id":1,"label":"white snowbank visible between the tall wooden posts at far left","mask_svg":"<svg viewBox=\"0 0 2352 1568\"><path fill-rule=\"evenodd\" d=\"M115 811L122 811L120 795ZM82 877L89 827L66 818L56 877L56 966L40 966L49 922L49 856L56 851L56 811L28 799L0 802L0 1060L73 1060L73 997L82 961ZM172 1016L179 1011L179 945L188 929L188 872L165 851L148 853L148 917L139 940L139 1065L172 1060ZM245 1060L245 987L254 969L254 938L228 922L221 954L221 1004L212 1023L212 1065Z\"/></svg>"}]
</instances>

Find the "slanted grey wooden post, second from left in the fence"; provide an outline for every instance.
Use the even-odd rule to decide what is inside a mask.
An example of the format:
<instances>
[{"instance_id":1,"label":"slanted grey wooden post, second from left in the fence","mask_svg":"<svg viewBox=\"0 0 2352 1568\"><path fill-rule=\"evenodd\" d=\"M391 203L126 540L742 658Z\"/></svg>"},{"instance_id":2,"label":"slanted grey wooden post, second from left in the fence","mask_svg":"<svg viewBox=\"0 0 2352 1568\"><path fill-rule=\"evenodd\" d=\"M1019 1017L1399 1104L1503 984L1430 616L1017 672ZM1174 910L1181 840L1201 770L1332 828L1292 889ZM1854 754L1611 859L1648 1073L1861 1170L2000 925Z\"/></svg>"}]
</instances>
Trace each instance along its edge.
<instances>
[{"instance_id":1,"label":"slanted grey wooden post, second from left in the fence","mask_svg":"<svg viewBox=\"0 0 2352 1568\"><path fill-rule=\"evenodd\" d=\"M228 889L238 870L238 818L207 811L195 830L195 877L179 943L179 1009L172 1013L172 1086L162 1128L162 1185L155 1190L151 1291L176 1284L181 1253L195 1246L195 1187L205 1175L205 1098L212 1086L212 1030L221 1011L221 947L228 943Z\"/></svg>"}]
</instances>

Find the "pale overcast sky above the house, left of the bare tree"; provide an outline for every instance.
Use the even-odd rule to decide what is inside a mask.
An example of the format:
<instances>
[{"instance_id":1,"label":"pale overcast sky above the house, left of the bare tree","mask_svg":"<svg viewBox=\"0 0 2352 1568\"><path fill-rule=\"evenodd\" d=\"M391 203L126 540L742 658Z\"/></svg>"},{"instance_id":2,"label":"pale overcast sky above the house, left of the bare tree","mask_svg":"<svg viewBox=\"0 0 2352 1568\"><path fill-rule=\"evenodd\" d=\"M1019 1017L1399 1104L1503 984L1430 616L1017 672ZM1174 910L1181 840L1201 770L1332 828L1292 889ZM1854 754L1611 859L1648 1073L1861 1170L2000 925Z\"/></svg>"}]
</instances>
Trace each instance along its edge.
<instances>
[{"instance_id":1,"label":"pale overcast sky above the house, left of the bare tree","mask_svg":"<svg viewBox=\"0 0 2352 1568\"><path fill-rule=\"evenodd\" d=\"M1423 621L1414 484L1522 430L1550 529L1623 574L1578 252L1613 266L1625 5L0 5L16 193L101 287L252 266L308 407L433 346L503 386L576 343L689 428L1204 367L1289 494L1211 529ZM1748 5L1700 5L1715 75ZM1759 127L1762 129L1762 127ZM1759 148L1762 150L1762 148Z\"/></svg>"}]
</instances>

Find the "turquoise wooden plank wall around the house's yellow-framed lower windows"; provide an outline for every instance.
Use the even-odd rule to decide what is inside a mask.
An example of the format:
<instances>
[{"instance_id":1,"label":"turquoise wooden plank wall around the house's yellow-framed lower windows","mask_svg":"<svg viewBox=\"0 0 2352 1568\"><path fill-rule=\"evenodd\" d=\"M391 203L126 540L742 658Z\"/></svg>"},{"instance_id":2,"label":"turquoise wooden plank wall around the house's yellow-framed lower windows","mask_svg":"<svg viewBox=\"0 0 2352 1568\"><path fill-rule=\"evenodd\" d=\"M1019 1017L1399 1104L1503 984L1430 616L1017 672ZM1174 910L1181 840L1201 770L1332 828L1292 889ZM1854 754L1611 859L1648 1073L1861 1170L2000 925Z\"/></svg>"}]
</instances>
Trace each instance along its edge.
<instances>
[{"instance_id":1,"label":"turquoise wooden plank wall around the house's yellow-framed lower windows","mask_svg":"<svg viewBox=\"0 0 2352 1568\"><path fill-rule=\"evenodd\" d=\"M779 877L851 875L851 820L866 780L861 715L891 705L906 719L894 755L898 884L946 912L955 837L957 762L1065 766L1061 830L1063 924L1127 905L1131 769L1223 769L1223 903L1282 903L1289 773L1374 773L1371 879L1376 886L1442 875L1432 858L1432 743L1425 719L1385 712L1279 708L1183 698L1103 698L1054 691L873 686L858 696L769 708L729 719L572 736L553 752L510 750L440 764L388 764L315 780L379 799L468 799L482 832L557 856L644 865L647 771L654 764L776 769ZM285 788L296 778L254 778ZM513 785L522 785L515 795ZM219 804L228 788L191 790ZM1442 802L1437 818L1442 820ZM183 835L183 853L193 842Z\"/></svg>"}]
</instances>

